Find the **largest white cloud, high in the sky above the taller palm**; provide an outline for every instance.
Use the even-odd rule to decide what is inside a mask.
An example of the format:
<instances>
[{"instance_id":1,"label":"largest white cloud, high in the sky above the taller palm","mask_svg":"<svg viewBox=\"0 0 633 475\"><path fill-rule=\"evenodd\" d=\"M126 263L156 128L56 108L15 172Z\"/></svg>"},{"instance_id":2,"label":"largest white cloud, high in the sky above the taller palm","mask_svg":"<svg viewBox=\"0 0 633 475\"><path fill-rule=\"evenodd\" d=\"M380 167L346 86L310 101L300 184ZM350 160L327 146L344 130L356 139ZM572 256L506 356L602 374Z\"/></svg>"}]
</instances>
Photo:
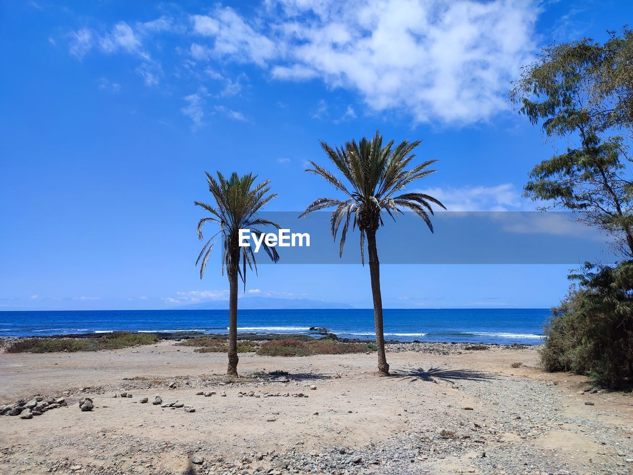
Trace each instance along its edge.
<instances>
[{"instance_id":1,"label":"largest white cloud, high in the sky above the taller palm","mask_svg":"<svg viewBox=\"0 0 633 475\"><path fill-rule=\"evenodd\" d=\"M194 15L194 32L213 38L218 56L272 66L275 79L320 77L360 93L375 111L461 124L507 108L510 80L534 50L539 13L532 0L268 5L266 18L245 20L230 8Z\"/></svg>"}]
</instances>

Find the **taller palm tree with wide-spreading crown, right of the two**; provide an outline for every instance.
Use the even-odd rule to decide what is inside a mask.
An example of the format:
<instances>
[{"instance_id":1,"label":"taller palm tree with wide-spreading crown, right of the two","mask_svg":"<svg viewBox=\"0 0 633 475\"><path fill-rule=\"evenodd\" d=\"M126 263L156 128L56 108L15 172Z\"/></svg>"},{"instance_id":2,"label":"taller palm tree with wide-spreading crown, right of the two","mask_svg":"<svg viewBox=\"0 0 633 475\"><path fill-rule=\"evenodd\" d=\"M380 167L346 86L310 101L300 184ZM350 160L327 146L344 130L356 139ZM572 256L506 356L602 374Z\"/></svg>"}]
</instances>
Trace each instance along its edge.
<instances>
[{"instance_id":1,"label":"taller palm tree with wide-spreading crown, right of the two","mask_svg":"<svg viewBox=\"0 0 633 475\"><path fill-rule=\"evenodd\" d=\"M380 374L389 374L389 364L387 364L385 357L385 338L382 331L380 263L376 247L376 231L384 225L383 213L387 213L395 220L398 213L403 213L402 210L405 209L420 216L433 232L433 225L429 217L429 213L433 214L430 203L435 203L444 209L446 207L428 194L403 193L403 189L411 182L436 172L436 170L429 170L428 167L437 160L427 160L427 162L407 170L409 163L415 158L413 149L421 141L409 142L405 140L394 148L394 141L391 140L383 146L380 131L376 132L372 140L363 137L360 143L356 143L356 141L346 142L340 148L332 148L323 141L320 143L328 158L348 181L348 185L315 162L310 162L313 168L308 168L306 172L323 177L325 181L341 191L346 198L344 200L319 198L310 203L301 217L316 210L335 207L330 217L330 224L334 239L336 239L342 224L339 256L343 254L349 222L353 217L353 229L358 227L360 231L361 262L363 265L365 265L365 238L367 238L369 271L372 280L373 317L376 327L376 345L378 346L378 370Z\"/></svg>"}]
</instances>

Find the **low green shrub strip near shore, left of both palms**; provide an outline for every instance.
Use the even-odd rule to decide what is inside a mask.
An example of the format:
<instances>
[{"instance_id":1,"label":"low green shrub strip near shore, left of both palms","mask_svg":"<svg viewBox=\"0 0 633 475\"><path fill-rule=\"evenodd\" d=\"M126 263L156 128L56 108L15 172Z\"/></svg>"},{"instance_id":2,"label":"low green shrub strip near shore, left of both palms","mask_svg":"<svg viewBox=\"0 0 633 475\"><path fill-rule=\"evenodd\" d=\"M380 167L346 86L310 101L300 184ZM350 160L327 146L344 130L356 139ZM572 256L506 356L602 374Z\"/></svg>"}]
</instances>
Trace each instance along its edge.
<instances>
[{"instance_id":1,"label":"low green shrub strip near shore, left of both palms","mask_svg":"<svg viewBox=\"0 0 633 475\"><path fill-rule=\"evenodd\" d=\"M98 338L22 338L6 348L8 353L96 352L136 345L153 345L158 335L115 331Z\"/></svg>"}]
</instances>

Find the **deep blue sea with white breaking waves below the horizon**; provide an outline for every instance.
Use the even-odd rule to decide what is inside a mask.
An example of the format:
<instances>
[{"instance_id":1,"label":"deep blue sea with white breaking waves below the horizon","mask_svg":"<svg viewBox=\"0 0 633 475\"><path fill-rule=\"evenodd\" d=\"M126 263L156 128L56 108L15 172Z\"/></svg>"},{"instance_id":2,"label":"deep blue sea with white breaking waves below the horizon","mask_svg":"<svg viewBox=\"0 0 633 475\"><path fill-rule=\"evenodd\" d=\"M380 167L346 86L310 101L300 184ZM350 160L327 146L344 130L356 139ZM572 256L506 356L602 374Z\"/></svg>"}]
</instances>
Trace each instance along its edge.
<instances>
[{"instance_id":1,"label":"deep blue sea with white breaking waves below the horizon","mask_svg":"<svg viewBox=\"0 0 633 475\"><path fill-rule=\"evenodd\" d=\"M509 345L542 343L547 308L385 309L385 339ZM227 333L228 310L78 310L0 312L0 336L198 331ZM372 309L240 310L241 333L313 334L326 327L342 338L372 339Z\"/></svg>"}]
</instances>

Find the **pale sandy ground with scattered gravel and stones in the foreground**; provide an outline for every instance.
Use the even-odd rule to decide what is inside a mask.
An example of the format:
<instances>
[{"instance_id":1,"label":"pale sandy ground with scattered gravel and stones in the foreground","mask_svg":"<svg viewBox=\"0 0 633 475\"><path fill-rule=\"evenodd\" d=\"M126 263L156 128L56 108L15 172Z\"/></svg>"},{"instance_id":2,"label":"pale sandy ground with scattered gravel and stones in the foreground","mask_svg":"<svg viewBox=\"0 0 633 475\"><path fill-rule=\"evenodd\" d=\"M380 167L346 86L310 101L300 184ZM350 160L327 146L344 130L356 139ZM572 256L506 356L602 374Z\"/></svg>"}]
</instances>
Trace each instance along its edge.
<instances>
[{"instance_id":1,"label":"pale sandy ground with scattered gravel and stones in the foreground","mask_svg":"<svg viewBox=\"0 0 633 475\"><path fill-rule=\"evenodd\" d=\"M392 377L375 353L243 353L230 381L225 354L173 343L0 353L1 404L68 404L0 416L0 474L633 473L630 393L542 372L535 348L390 345Z\"/></svg>"}]
</instances>

